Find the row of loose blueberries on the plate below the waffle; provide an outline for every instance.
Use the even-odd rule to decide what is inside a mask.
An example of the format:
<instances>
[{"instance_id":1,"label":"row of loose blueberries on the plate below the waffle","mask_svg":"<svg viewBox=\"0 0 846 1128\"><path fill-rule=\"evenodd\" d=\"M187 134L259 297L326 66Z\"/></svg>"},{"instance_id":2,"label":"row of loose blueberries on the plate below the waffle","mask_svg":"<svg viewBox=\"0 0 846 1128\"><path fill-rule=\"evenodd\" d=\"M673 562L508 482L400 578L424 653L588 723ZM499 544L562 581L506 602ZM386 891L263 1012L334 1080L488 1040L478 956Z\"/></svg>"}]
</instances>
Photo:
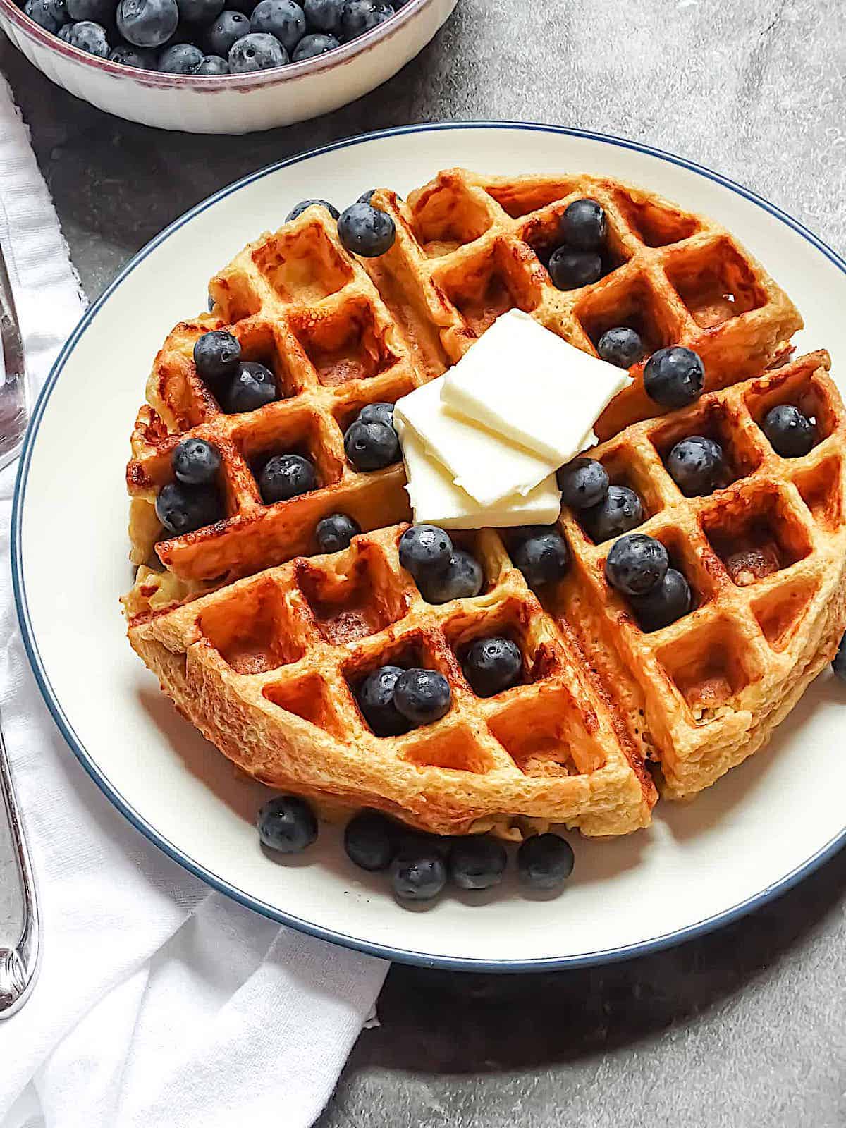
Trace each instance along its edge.
<instances>
[{"instance_id":1,"label":"row of loose blueberries on the plate below the waffle","mask_svg":"<svg viewBox=\"0 0 846 1128\"><path fill-rule=\"evenodd\" d=\"M317 839L317 819L297 795L279 795L258 812L258 836L280 854L297 854ZM409 830L380 814L361 811L346 825L344 848L362 870L390 871L400 901L430 901L450 881L458 889L492 889L508 866L505 846L488 835L439 838ZM517 852L517 869L527 888L552 890L573 872L573 849L558 835L527 838Z\"/></svg>"}]
</instances>

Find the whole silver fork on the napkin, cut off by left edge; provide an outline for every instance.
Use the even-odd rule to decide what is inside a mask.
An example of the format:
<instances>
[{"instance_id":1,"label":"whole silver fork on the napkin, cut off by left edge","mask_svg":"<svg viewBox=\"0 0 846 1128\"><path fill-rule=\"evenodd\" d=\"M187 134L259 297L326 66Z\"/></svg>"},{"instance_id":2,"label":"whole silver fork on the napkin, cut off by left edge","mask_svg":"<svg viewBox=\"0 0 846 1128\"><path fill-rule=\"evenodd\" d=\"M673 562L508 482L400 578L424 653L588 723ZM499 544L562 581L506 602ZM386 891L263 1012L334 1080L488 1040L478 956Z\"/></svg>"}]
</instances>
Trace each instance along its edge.
<instances>
[{"instance_id":1,"label":"whole silver fork on the napkin, cut off by left edge","mask_svg":"<svg viewBox=\"0 0 846 1128\"><path fill-rule=\"evenodd\" d=\"M0 469L2 469L19 453L29 417L24 346L2 247L0 247L0 342L2 343L6 368L5 379L2 371L0 371ZM33 865L11 782L11 767L3 740L2 716L0 716L0 792L3 796L3 807L11 832L11 845L18 866L24 908L20 936L17 943L14 948L0 945L0 1019L8 1019L20 1010L35 984L41 950L41 928Z\"/></svg>"}]
</instances>

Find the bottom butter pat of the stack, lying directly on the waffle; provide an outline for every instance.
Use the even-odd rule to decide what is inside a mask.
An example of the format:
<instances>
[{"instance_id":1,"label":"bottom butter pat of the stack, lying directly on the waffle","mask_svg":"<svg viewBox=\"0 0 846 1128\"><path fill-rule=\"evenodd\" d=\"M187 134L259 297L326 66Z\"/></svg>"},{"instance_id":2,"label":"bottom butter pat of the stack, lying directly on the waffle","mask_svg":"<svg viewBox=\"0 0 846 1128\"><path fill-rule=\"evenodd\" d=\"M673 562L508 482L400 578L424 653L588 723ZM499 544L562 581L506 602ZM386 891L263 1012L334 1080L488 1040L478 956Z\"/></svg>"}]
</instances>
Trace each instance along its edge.
<instances>
[{"instance_id":1,"label":"bottom butter pat of the stack, lying directly on the waffle","mask_svg":"<svg viewBox=\"0 0 846 1128\"><path fill-rule=\"evenodd\" d=\"M396 418L396 416L395 416ZM561 512L561 491L550 474L525 497L506 497L485 509L453 484L422 439L397 420L403 460L408 477L408 496L415 521L442 529L504 529L517 525L552 525Z\"/></svg>"}]
</instances>

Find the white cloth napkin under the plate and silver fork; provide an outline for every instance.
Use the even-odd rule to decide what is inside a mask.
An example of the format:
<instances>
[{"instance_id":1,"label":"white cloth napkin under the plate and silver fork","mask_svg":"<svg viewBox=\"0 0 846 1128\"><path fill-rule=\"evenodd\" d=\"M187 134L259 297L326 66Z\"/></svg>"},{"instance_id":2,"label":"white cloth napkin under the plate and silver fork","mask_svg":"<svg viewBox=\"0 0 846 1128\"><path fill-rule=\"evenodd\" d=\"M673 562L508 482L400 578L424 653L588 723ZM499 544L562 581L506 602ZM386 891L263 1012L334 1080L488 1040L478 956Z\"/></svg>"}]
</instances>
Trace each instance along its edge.
<instances>
[{"instance_id":1,"label":"white cloth napkin under the plate and silver fork","mask_svg":"<svg viewBox=\"0 0 846 1128\"><path fill-rule=\"evenodd\" d=\"M0 243L38 385L82 298L2 78ZM212 892L129 827L90 782L24 655L9 574L14 474L14 466L0 474L0 707L34 855L44 955L34 995L0 1022L0 1126L306 1128L388 966ZM8 931L0 920L3 938Z\"/></svg>"}]
</instances>

